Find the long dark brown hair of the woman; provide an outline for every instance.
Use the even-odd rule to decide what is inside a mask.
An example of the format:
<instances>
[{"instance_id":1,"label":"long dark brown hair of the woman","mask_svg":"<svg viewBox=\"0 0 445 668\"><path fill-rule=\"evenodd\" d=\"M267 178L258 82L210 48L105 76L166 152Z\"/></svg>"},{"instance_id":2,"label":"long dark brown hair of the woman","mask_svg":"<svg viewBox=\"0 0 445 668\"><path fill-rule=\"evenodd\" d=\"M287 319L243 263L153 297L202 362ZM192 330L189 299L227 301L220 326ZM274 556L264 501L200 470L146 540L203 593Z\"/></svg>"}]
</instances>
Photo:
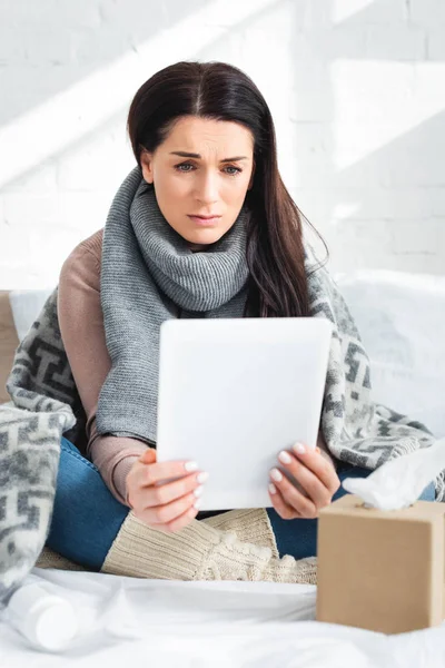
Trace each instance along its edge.
<instances>
[{"instance_id":1,"label":"long dark brown hair of the woman","mask_svg":"<svg viewBox=\"0 0 445 668\"><path fill-rule=\"evenodd\" d=\"M181 61L161 69L139 88L128 114L128 134L139 166L141 151L154 153L184 116L238 122L254 136L256 169L246 195L251 212L246 313L310 315L303 216L278 170L274 121L263 95L245 72L225 62Z\"/></svg>"}]
</instances>

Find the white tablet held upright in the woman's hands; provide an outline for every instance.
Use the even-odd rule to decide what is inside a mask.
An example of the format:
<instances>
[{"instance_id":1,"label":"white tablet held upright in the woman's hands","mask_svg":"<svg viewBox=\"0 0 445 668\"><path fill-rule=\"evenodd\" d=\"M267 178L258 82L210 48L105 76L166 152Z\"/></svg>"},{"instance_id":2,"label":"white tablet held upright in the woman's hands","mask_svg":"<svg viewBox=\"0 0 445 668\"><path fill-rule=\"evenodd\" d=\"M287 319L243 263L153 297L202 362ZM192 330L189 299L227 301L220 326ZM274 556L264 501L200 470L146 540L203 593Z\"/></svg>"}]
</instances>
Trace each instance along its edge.
<instances>
[{"instance_id":1,"label":"white tablet held upright in the woman's hands","mask_svg":"<svg viewBox=\"0 0 445 668\"><path fill-rule=\"evenodd\" d=\"M161 325L157 456L208 471L200 510L271 505L279 451L316 445L330 337L322 317Z\"/></svg>"}]
</instances>

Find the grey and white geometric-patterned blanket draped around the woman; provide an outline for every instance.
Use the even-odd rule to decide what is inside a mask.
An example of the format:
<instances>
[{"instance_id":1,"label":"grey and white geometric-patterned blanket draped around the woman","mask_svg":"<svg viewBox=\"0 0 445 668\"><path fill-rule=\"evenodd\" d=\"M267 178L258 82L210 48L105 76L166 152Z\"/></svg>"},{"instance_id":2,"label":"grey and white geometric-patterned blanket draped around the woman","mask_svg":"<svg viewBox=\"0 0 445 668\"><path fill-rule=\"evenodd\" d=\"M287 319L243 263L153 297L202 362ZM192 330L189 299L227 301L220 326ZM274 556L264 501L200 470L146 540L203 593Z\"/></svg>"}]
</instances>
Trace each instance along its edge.
<instances>
[{"instance_id":1,"label":"grey and white geometric-patterned blanket draped around the woman","mask_svg":"<svg viewBox=\"0 0 445 668\"><path fill-rule=\"evenodd\" d=\"M338 459L375 469L435 441L428 430L370 396L369 361L353 317L325 268L307 254L310 312L334 325L322 411L323 433ZM62 434L85 443L86 414L60 335L57 288L16 352L0 406L0 600L42 550L51 520ZM435 481L445 499L444 473Z\"/></svg>"}]
</instances>

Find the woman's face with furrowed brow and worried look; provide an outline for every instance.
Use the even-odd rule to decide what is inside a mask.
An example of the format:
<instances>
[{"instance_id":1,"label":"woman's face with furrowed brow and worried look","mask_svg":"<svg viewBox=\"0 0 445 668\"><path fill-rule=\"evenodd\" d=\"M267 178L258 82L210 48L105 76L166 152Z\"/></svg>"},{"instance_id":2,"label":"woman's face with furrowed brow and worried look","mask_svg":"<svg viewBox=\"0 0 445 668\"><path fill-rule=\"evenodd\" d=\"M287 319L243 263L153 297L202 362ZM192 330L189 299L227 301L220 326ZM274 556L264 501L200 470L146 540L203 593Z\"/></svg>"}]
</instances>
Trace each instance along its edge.
<instances>
[{"instance_id":1,"label":"woman's face with furrowed brow and worried look","mask_svg":"<svg viewBox=\"0 0 445 668\"><path fill-rule=\"evenodd\" d=\"M142 151L141 166L164 217L199 250L238 217L254 177L254 138L237 122L186 116L154 154Z\"/></svg>"}]
</instances>

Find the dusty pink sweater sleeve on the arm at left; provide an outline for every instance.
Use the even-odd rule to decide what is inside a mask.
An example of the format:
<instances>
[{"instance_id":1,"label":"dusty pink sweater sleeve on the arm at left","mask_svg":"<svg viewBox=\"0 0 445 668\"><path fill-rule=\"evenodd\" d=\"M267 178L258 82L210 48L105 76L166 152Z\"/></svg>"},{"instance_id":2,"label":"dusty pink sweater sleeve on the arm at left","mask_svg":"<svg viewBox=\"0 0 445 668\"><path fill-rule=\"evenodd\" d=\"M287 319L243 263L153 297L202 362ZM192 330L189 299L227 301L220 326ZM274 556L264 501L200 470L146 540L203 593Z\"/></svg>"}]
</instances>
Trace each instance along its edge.
<instances>
[{"instance_id":1,"label":"dusty pink sweater sleeve on the arm at left","mask_svg":"<svg viewBox=\"0 0 445 668\"><path fill-rule=\"evenodd\" d=\"M99 469L113 497L129 505L126 478L147 450L138 439L98 434L99 393L111 367L100 305L102 232L72 250L59 278L58 317L65 350L87 414L87 458Z\"/></svg>"}]
</instances>

